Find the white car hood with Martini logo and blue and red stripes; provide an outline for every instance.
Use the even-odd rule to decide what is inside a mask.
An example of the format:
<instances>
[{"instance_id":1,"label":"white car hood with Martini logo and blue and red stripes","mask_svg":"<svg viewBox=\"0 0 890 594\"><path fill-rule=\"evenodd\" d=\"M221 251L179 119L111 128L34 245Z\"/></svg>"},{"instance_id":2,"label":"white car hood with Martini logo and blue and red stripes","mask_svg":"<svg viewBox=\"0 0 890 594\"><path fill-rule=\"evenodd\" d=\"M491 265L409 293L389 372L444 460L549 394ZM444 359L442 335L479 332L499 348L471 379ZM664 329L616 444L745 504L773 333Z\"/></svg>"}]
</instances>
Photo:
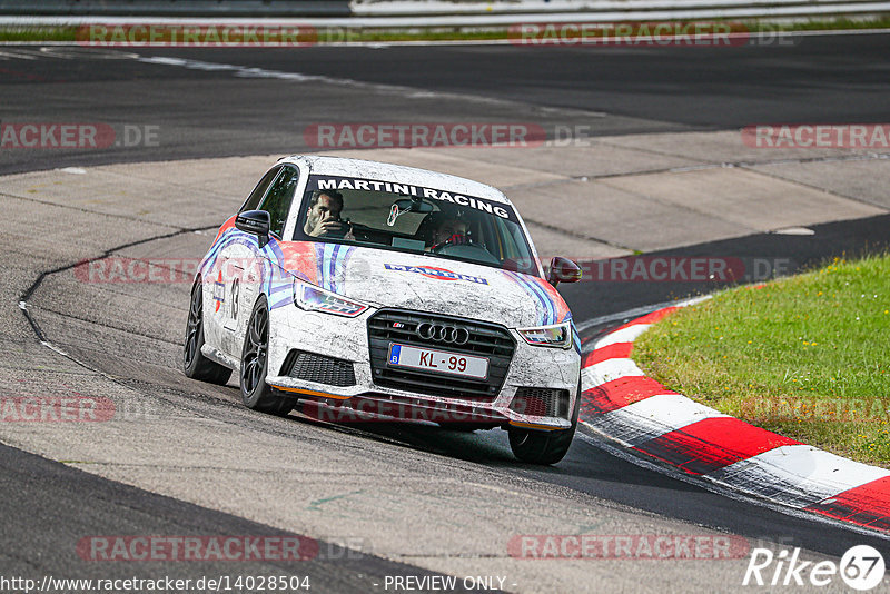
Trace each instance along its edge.
<instances>
[{"instance_id":1,"label":"white car hood with Martini logo and blue and red stripes","mask_svg":"<svg viewBox=\"0 0 890 594\"><path fill-rule=\"evenodd\" d=\"M306 280L376 307L483 319L510 328L556 324L570 317L556 289L538 277L337 244L315 244L314 250L315 275Z\"/></svg>"}]
</instances>

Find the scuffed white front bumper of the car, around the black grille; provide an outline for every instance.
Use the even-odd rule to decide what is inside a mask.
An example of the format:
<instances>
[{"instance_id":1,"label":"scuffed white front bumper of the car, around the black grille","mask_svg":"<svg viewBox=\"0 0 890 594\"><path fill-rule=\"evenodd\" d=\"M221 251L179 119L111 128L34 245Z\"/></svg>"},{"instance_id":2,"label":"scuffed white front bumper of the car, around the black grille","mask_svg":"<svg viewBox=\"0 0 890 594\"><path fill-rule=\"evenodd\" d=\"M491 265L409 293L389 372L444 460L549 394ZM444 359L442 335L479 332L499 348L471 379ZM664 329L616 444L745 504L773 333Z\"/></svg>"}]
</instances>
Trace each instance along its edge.
<instances>
[{"instance_id":1,"label":"scuffed white front bumper of the car, around the black grille","mask_svg":"<svg viewBox=\"0 0 890 594\"><path fill-rule=\"evenodd\" d=\"M577 350L531 346L515 330L504 328L515 347L505 365L505 375L494 383L496 389L491 394L466 396L461 392L448 394L447 389L434 389L436 394L431 394L428 388L425 392L411 389L404 383L404 387L393 387L393 383L375 383L375 373L380 377L380 365L379 362L372 363L369 343L376 341L378 349L380 345L379 339L369 341L368 318L379 311L372 308L356 318L345 318L305 311L290 305L273 309L266 382L298 398L338 404L375 417L538 429L571 427L578 398L581 356ZM412 314L426 315L421 311ZM447 350L445 346L437 348ZM318 359L348 362L354 377L344 379L343 374L327 374L324 382L293 377L289 373L294 352L317 355ZM308 357L313 358L316 357ZM349 383L352 385L344 385ZM542 405L547 394L558 395L560 404ZM566 402L563 403L562 398Z\"/></svg>"}]
</instances>

